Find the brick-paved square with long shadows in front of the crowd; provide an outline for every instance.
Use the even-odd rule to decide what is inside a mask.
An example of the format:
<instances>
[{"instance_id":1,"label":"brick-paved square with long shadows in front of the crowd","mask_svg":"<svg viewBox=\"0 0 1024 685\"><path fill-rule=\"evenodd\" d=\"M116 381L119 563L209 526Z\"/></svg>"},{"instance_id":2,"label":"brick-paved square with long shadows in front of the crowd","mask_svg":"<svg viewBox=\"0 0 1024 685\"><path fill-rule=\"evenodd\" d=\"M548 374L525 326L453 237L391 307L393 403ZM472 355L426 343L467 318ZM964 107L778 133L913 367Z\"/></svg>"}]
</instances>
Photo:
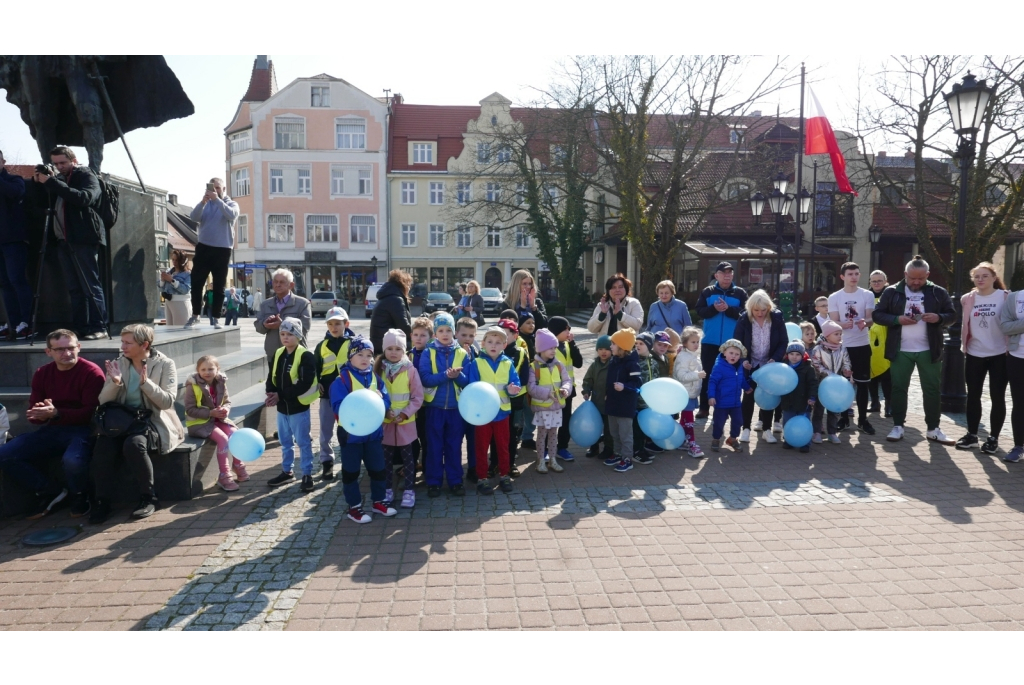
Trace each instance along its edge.
<instances>
[{"instance_id":1,"label":"brick-paved square with long shadows in front of the crowd","mask_svg":"<svg viewBox=\"0 0 1024 685\"><path fill-rule=\"evenodd\" d=\"M907 428L627 474L580 457L524 469L511 497L421 493L362 526L340 484L267 493L272 448L239 494L55 548L17 540L66 513L0 522L0 628L1020 628L1024 473Z\"/></svg>"}]
</instances>

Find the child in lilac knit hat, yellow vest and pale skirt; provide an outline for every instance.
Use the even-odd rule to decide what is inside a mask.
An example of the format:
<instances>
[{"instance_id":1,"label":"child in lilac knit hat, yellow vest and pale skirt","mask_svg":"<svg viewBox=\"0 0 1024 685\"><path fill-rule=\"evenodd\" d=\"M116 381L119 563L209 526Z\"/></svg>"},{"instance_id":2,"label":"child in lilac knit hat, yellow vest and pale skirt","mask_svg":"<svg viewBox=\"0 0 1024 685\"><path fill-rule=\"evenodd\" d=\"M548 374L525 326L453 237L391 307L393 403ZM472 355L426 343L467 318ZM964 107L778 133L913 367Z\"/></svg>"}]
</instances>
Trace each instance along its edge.
<instances>
[{"instance_id":1,"label":"child in lilac knit hat, yellow vest and pale skirt","mask_svg":"<svg viewBox=\"0 0 1024 685\"><path fill-rule=\"evenodd\" d=\"M537 332L537 356L529 367L530 404L537 426L537 472L547 473L544 455L551 459L551 470L561 473L558 463L558 428L562 425L562 406L569 396L571 382L565 365L556 358L558 339L551 331Z\"/></svg>"}]
</instances>

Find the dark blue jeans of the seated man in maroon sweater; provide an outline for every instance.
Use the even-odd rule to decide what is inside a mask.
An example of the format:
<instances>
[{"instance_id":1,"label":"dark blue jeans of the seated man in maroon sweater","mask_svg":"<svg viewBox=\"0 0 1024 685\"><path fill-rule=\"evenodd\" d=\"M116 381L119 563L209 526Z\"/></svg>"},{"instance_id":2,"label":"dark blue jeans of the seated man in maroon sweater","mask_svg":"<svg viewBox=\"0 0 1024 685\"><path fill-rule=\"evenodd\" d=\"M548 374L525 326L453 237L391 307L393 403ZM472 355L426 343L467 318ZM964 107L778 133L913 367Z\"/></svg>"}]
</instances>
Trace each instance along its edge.
<instances>
[{"instance_id":1,"label":"dark blue jeans of the seated man in maroon sweater","mask_svg":"<svg viewBox=\"0 0 1024 685\"><path fill-rule=\"evenodd\" d=\"M57 489L32 463L36 458L60 457L65 477L72 493L84 493L89 486L89 460L92 444L88 426L43 426L34 433L24 433L0 445L0 469L23 487L33 493Z\"/></svg>"}]
</instances>

